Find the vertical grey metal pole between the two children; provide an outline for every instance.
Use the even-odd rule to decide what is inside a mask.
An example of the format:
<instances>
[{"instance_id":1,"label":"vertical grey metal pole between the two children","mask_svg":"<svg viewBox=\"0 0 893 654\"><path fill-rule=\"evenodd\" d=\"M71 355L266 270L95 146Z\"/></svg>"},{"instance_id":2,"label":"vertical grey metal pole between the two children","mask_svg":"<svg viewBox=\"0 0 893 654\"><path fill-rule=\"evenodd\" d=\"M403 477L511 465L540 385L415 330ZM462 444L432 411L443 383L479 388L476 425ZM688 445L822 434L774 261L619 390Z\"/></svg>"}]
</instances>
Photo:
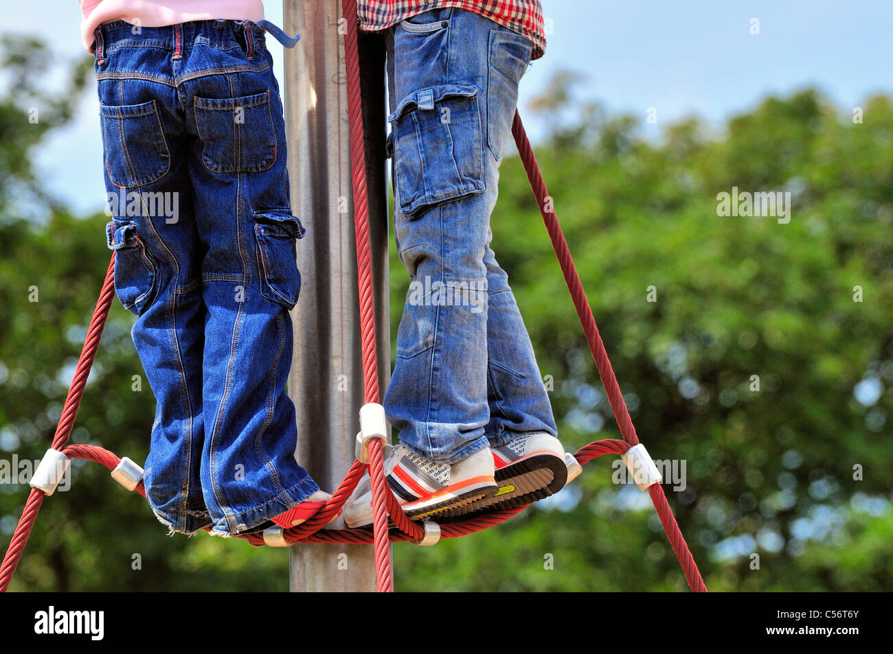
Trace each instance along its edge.
<instances>
[{"instance_id":1,"label":"vertical grey metal pole between the two children","mask_svg":"<svg viewBox=\"0 0 893 654\"><path fill-rule=\"evenodd\" d=\"M343 21L339 0L285 0L285 28L301 41L285 53L285 114L291 203L307 234L298 242L300 300L288 393L297 410L297 460L332 492L354 460L363 405ZM384 43L360 35L372 274L379 378L390 374L388 204L384 170ZM342 518L332 526L344 526ZM345 527L346 528L346 527ZM368 545L294 545L295 592L374 591Z\"/></svg>"}]
</instances>

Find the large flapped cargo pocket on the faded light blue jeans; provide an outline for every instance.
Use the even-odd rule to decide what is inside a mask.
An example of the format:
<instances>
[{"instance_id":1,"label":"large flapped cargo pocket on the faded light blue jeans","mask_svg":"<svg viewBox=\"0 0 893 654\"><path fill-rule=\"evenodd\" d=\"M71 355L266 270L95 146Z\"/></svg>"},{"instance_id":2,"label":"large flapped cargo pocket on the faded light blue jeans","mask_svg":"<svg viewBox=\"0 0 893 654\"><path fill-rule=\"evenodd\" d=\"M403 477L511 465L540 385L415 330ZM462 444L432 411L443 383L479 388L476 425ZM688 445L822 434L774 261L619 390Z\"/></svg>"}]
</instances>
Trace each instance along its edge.
<instances>
[{"instance_id":1,"label":"large flapped cargo pocket on the faded light blue jeans","mask_svg":"<svg viewBox=\"0 0 893 654\"><path fill-rule=\"evenodd\" d=\"M421 88L388 116L397 202L411 218L486 188L478 92L467 84Z\"/></svg>"}]
</instances>

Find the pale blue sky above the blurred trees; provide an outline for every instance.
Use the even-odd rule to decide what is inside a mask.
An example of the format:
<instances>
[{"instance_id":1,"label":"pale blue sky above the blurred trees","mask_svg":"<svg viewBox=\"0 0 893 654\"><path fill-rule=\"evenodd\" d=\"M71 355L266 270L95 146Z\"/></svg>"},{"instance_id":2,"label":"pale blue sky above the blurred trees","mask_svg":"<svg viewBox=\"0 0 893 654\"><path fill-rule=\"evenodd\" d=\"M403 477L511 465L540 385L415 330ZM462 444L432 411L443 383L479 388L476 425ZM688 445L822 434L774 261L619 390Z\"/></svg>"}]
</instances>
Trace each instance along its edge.
<instances>
[{"instance_id":1,"label":"pale blue sky above the blurred trees","mask_svg":"<svg viewBox=\"0 0 893 654\"><path fill-rule=\"evenodd\" d=\"M293 0L287 0L293 1ZM265 0L281 24L283 0ZM655 107L664 125L697 114L715 126L770 93L822 88L850 111L867 95L890 92L889 0L542 0L551 22L546 56L522 80L524 106L555 70L586 75L580 96L612 112L644 118ZM35 8L39 7L39 11ZM7 3L4 32L43 36L63 64L79 54L75 0ZM753 19L759 34L751 34ZM278 58L281 48L269 39ZM300 44L297 46L300 47ZM280 59L279 59L280 61ZM281 75L282 68L278 69ZM281 80L288 86L288 80ZM545 126L525 120L536 139ZM38 155L51 193L75 211L104 203L98 103L92 92L70 127L54 133Z\"/></svg>"}]
</instances>

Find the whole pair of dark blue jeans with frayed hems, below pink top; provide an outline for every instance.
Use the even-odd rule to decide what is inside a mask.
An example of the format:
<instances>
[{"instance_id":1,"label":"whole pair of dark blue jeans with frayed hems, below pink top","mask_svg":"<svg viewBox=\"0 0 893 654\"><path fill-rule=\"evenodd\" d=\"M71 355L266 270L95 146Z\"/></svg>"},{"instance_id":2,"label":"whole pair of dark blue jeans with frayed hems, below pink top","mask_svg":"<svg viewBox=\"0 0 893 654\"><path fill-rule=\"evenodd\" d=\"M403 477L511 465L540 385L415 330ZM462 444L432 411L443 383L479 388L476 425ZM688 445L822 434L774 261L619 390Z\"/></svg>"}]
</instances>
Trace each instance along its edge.
<instances>
[{"instance_id":1,"label":"whole pair of dark blue jeans with frayed hems, below pink top","mask_svg":"<svg viewBox=\"0 0 893 654\"><path fill-rule=\"evenodd\" d=\"M172 530L238 534L318 490L295 459L288 311L304 228L263 30L96 30L115 289L157 401L146 494Z\"/></svg>"}]
</instances>

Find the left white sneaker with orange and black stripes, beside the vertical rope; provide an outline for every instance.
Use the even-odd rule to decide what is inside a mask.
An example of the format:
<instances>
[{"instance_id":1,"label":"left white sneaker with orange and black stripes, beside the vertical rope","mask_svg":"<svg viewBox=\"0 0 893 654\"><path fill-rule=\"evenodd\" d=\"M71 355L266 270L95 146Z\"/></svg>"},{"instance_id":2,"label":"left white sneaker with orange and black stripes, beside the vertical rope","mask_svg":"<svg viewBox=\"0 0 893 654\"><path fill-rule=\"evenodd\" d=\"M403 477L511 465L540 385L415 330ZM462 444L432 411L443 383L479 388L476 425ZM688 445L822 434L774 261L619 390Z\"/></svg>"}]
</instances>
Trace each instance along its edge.
<instances>
[{"instance_id":1,"label":"left white sneaker with orange and black stripes, beside the vertical rope","mask_svg":"<svg viewBox=\"0 0 893 654\"><path fill-rule=\"evenodd\" d=\"M385 476L400 506L413 520L464 515L474 501L497 493L494 459L488 447L453 465L422 459L397 445L385 459ZM363 476L345 504L347 526L372 523L371 480Z\"/></svg>"}]
</instances>

